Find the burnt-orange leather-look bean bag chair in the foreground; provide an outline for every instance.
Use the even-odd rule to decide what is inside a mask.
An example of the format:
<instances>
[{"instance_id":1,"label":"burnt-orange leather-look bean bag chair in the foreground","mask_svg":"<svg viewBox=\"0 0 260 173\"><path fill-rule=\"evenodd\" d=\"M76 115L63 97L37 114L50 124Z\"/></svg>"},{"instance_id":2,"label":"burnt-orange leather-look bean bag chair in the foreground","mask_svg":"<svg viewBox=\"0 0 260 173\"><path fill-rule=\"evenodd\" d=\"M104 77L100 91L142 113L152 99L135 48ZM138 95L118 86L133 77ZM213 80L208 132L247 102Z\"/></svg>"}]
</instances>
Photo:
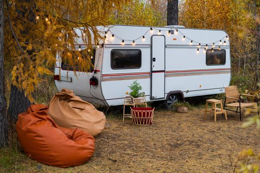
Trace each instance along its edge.
<instances>
[{"instance_id":1,"label":"burnt-orange leather-look bean bag chair in the foreground","mask_svg":"<svg viewBox=\"0 0 260 173\"><path fill-rule=\"evenodd\" d=\"M95 139L84 130L58 127L48 107L31 105L18 115L16 131L25 154L56 167L81 165L93 155Z\"/></svg>"}]
</instances>

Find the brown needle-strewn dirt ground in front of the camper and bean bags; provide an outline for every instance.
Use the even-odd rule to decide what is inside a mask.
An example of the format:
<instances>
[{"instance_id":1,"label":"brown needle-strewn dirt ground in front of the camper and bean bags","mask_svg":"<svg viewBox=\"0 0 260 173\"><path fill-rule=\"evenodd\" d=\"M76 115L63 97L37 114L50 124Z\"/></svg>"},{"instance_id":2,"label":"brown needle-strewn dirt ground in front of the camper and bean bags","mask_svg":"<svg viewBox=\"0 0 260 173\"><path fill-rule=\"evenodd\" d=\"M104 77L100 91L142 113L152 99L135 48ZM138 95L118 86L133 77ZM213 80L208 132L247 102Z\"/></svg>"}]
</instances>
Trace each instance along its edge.
<instances>
[{"instance_id":1,"label":"brown needle-strewn dirt ground in front of the camper and bean bags","mask_svg":"<svg viewBox=\"0 0 260 173\"><path fill-rule=\"evenodd\" d=\"M247 116L240 122L239 114L228 112L227 121L219 114L215 123L213 114L204 121L203 113L156 111L149 127L108 118L86 164L67 169L29 159L19 164L34 162L28 171L48 173L225 173L231 172L241 150L259 152L259 131L255 126L241 128Z\"/></svg>"}]
</instances>

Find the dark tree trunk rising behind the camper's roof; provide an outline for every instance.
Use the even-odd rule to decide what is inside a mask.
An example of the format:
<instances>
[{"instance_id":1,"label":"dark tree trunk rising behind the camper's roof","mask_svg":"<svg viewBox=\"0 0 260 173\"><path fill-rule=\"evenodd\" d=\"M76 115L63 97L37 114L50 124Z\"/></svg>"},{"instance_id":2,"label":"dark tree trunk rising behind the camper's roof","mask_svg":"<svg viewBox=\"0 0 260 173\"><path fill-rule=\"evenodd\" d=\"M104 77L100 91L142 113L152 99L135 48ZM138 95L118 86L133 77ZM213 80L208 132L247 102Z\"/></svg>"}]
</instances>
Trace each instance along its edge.
<instances>
[{"instance_id":1,"label":"dark tree trunk rising behind the camper's roof","mask_svg":"<svg viewBox=\"0 0 260 173\"><path fill-rule=\"evenodd\" d=\"M168 0L167 25L178 25L178 0Z\"/></svg>"}]
</instances>

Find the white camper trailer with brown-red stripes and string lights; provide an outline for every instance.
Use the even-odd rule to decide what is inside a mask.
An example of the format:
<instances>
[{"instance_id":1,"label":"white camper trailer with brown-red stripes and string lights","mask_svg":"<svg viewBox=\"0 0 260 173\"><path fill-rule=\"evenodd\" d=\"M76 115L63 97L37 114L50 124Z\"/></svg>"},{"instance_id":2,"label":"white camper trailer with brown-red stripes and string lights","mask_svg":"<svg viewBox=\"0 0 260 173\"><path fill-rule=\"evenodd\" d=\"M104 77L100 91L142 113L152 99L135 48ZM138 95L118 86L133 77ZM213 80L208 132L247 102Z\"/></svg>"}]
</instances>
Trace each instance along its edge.
<instances>
[{"instance_id":1,"label":"white camper trailer with brown-red stripes and string lights","mask_svg":"<svg viewBox=\"0 0 260 173\"><path fill-rule=\"evenodd\" d=\"M223 93L229 86L230 47L225 31L125 25L98 29L106 39L93 44L91 72L77 71L75 76L57 56L58 90L72 89L88 102L115 106L123 104L128 86L137 80L147 101L166 100L171 105L185 97ZM84 51L81 37L75 45Z\"/></svg>"}]
</instances>

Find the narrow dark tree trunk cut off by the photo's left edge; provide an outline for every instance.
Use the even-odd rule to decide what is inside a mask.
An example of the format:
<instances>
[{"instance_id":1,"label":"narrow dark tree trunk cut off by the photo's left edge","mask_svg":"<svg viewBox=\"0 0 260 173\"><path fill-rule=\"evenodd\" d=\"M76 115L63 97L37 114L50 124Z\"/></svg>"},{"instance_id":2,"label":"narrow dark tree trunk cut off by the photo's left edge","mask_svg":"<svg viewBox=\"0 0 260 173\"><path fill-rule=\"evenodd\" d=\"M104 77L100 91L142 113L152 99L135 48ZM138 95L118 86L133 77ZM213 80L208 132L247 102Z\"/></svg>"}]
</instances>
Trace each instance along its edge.
<instances>
[{"instance_id":1,"label":"narrow dark tree trunk cut off by the photo's left edge","mask_svg":"<svg viewBox=\"0 0 260 173\"><path fill-rule=\"evenodd\" d=\"M3 0L0 0L0 147L8 144L6 100L4 98L3 26Z\"/></svg>"}]
</instances>

